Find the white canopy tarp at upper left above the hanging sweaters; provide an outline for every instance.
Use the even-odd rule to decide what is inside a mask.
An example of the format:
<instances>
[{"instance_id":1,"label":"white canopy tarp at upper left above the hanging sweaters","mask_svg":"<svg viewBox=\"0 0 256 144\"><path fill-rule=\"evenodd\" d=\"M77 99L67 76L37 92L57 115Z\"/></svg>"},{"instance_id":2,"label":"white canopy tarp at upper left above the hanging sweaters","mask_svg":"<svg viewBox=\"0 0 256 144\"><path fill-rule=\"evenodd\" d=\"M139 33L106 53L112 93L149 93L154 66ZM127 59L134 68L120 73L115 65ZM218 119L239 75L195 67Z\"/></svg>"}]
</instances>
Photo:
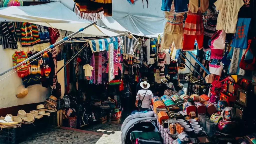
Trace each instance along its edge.
<instances>
[{"instance_id":1,"label":"white canopy tarp at upper left above the hanging sweaters","mask_svg":"<svg viewBox=\"0 0 256 144\"><path fill-rule=\"evenodd\" d=\"M0 21L30 22L61 30L75 32L89 25L88 20L79 19L78 15L59 2L34 6L11 6L0 8ZM113 30L93 25L83 32L88 37L117 36Z\"/></svg>"}]
</instances>

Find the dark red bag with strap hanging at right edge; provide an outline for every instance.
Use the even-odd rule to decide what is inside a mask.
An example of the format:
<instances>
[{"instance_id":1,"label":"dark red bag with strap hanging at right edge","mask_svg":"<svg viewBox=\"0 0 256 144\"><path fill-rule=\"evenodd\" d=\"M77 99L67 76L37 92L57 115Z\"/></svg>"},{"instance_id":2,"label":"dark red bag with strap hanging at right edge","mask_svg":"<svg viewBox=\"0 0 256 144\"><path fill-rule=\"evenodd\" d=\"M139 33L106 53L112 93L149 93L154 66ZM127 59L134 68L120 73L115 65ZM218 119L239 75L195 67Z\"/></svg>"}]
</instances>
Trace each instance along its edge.
<instances>
[{"instance_id":1,"label":"dark red bag with strap hanging at right edge","mask_svg":"<svg viewBox=\"0 0 256 144\"><path fill-rule=\"evenodd\" d=\"M243 54L242 59L241 59L241 61L240 61L240 63L239 63L239 67L240 67L241 69L244 69L244 70L254 70L254 64L255 64L255 62L256 62L255 56L253 56L252 63L248 64L248 63L245 61L245 55L246 55L248 49L250 49L251 41L252 41L251 39L248 40L248 47L247 47L245 53ZM250 51L251 51L251 49L250 49ZM252 53L252 51L251 51L251 53ZM253 54L253 53L252 53L252 54Z\"/></svg>"}]
</instances>

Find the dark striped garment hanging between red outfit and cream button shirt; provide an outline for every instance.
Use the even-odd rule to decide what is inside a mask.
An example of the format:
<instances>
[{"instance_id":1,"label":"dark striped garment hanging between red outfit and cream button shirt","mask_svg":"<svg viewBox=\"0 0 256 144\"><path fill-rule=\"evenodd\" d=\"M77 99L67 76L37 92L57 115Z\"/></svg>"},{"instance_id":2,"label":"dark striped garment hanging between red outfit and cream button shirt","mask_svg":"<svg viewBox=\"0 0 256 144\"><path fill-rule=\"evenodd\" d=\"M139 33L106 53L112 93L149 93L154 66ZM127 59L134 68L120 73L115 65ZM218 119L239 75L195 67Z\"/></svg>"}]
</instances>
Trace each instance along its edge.
<instances>
[{"instance_id":1,"label":"dark striped garment hanging between red outfit and cream button shirt","mask_svg":"<svg viewBox=\"0 0 256 144\"><path fill-rule=\"evenodd\" d=\"M209 39L216 33L218 12L212 11L210 8L207 10L207 16L209 17L204 29L204 52L210 50L208 45Z\"/></svg>"}]
</instances>

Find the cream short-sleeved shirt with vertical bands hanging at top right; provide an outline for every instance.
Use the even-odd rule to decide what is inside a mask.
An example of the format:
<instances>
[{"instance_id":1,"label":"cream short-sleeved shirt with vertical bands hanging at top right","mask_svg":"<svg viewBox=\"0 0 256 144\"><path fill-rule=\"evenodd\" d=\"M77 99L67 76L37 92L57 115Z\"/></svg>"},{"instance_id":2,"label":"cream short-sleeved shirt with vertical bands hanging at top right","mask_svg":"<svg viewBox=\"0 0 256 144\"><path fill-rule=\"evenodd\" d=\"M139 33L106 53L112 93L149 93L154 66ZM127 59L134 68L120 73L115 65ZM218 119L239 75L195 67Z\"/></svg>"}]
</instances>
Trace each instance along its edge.
<instances>
[{"instance_id":1,"label":"cream short-sleeved shirt with vertical bands hanging at top right","mask_svg":"<svg viewBox=\"0 0 256 144\"><path fill-rule=\"evenodd\" d=\"M238 11L244 5L243 0L217 0L214 5L217 11L220 10L216 29L223 29L227 34L236 33Z\"/></svg>"}]
</instances>

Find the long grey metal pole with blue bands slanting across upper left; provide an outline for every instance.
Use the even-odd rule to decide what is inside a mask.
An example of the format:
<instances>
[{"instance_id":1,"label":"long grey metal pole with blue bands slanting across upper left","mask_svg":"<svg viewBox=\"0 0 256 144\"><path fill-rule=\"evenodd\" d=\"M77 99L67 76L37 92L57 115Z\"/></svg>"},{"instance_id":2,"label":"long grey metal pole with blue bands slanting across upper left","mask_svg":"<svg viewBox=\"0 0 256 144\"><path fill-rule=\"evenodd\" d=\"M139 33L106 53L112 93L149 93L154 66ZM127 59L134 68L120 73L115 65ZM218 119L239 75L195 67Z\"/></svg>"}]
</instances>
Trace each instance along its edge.
<instances>
[{"instance_id":1,"label":"long grey metal pole with blue bands slanting across upper left","mask_svg":"<svg viewBox=\"0 0 256 144\"><path fill-rule=\"evenodd\" d=\"M78 31L72 33L71 35L64 37L63 39L59 40L58 42L56 42L56 43L50 45L49 47L47 47L47 48L41 50L39 53L37 53L37 54L31 56L30 58L28 58L28 59L22 61L21 63L17 64L16 66L13 66L12 68L10 68L10 69L4 71L3 73L0 74L0 77L1 77L2 75L4 75L4 74L8 73L8 72L11 71L12 69L15 69L15 68L17 68L18 66L22 65L22 64L25 63L26 61L31 60L31 59L33 59L34 57L40 55L41 53L45 52L46 50L48 50L48 49L50 49L50 48L54 48L54 46L58 45L59 43L65 41L65 40L68 40L69 38L75 36L75 35L78 34L79 32L82 32L84 29L86 29L86 28L88 28L88 27L90 27L90 26L92 26L92 25L94 25L94 24L96 24L96 22L90 23L90 24L87 25L86 27L80 28Z\"/></svg>"}]
</instances>

